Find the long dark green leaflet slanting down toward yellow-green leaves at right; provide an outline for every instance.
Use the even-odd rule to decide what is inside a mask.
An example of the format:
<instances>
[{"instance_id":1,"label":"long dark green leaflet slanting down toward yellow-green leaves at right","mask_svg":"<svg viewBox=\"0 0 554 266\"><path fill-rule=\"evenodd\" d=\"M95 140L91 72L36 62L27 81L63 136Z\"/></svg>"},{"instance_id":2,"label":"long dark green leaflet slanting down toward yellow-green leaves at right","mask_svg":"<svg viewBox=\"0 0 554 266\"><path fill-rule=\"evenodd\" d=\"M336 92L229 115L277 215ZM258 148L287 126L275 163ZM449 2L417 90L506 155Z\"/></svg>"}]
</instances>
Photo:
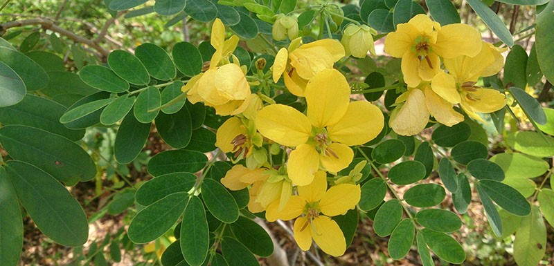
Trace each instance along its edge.
<instances>
[{"instance_id":1,"label":"long dark green leaflet slanting down toward yellow-green leaves at right","mask_svg":"<svg viewBox=\"0 0 554 266\"><path fill-rule=\"evenodd\" d=\"M529 202L514 188L496 180L480 180L477 184L500 207L517 216L527 216L531 211Z\"/></svg>"}]
</instances>

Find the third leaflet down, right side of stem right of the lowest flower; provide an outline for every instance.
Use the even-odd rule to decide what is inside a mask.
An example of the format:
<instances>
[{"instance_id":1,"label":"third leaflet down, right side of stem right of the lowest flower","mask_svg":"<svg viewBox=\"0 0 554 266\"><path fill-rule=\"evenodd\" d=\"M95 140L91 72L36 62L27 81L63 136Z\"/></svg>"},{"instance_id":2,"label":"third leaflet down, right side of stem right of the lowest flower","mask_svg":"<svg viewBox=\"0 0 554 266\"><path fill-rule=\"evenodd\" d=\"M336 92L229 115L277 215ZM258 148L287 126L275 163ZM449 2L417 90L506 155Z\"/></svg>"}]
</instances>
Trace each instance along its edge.
<instances>
[{"instance_id":1,"label":"third leaflet down, right side of stem right of the lowest flower","mask_svg":"<svg viewBox=\"0 0 554 266\"><path fill-rule=\"evenodd\" d=\"M418 184L404 193L404 200L413 207L432 207L445 200L446 192L438 184Z\"/></svg>"}]
</instances>

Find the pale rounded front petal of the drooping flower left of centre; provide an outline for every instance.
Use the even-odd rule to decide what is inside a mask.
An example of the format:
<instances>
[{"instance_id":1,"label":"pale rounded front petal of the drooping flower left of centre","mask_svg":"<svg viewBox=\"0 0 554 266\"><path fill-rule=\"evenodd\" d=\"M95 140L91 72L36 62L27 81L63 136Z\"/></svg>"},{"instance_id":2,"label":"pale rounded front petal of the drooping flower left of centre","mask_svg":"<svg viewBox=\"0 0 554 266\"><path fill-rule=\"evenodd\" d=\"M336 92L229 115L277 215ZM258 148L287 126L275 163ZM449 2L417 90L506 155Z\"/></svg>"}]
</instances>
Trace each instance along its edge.
<instances>
[{"instance_id":1,"label":"pale rounded front petal of the drooping flower left of centre","mask_svg":"<svg viewBox=\"0 0 554 266\"><path fill-rule=\"evenodd\" d=\"M250 95L247 78L235 64L226 64L217 68L215 73L217 92L227 99L246 99Z\"/></svg>"}]
</instances>

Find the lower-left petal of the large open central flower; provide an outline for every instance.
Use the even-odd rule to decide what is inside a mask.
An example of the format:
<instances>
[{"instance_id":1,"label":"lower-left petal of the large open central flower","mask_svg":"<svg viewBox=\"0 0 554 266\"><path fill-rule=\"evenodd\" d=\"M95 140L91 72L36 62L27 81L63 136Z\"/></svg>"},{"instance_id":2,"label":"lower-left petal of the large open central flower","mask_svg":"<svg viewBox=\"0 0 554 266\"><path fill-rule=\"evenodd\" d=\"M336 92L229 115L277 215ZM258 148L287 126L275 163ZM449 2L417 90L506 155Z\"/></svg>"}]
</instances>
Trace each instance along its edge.
<instances>
[{"instance_id":1,"label":"lower-left petal of the large open central flower","mask_svg":"<svg viewBox=\"0 0 554 266\"><path fill-rule=\"evenodd\" d=\"M319 169L319 153L310 144L300 144L289 155L287 173L290 180L298 186L305 186L314 180Z\"/></svg>"}]
</instances>

